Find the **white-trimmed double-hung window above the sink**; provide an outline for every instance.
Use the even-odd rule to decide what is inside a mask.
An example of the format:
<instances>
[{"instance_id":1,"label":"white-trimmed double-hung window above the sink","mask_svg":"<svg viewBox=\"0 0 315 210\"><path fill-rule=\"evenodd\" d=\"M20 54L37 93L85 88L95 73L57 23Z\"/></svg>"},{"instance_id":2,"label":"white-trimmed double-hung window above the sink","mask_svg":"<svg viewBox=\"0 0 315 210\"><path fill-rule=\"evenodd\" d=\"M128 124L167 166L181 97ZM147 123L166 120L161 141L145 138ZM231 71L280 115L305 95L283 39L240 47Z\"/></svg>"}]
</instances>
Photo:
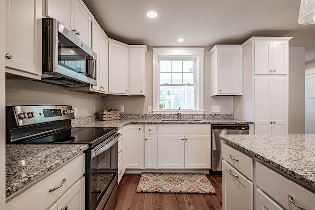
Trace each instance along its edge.
<instances>
[{"instance_id":1,"label":"white-trimmed double-hung window above the sink","mask_svg":"<svg viewBox=\"0 0 315 210\"><path fill-rule=\"evenodd\" d=\"M153 48L153 112L203 113L204 48ZM162 110L159 104L163 104Z\"/></svg>"}]
</instances>

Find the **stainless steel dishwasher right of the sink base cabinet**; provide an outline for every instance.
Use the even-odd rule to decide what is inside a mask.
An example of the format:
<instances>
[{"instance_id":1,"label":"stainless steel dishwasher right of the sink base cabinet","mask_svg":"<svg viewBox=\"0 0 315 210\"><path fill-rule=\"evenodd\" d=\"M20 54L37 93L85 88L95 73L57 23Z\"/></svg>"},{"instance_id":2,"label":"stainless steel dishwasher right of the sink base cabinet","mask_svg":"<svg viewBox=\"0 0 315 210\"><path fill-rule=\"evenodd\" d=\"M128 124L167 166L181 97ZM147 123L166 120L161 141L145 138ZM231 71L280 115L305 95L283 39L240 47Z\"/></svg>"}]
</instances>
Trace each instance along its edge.
<instances>
[{"instance_id":1,"label":"stainless steel dishwasher right of the sink base cabinet","mask_svg":"<svg viewBox=\"0 0 315 210\"><path fill-rule=\"evenodd\" d=\"M224 124L211 126L211 164L212 171L222 171L222 145L220 134L249 134L250 126L248 124Z\"/></svg>"}]
</instances>

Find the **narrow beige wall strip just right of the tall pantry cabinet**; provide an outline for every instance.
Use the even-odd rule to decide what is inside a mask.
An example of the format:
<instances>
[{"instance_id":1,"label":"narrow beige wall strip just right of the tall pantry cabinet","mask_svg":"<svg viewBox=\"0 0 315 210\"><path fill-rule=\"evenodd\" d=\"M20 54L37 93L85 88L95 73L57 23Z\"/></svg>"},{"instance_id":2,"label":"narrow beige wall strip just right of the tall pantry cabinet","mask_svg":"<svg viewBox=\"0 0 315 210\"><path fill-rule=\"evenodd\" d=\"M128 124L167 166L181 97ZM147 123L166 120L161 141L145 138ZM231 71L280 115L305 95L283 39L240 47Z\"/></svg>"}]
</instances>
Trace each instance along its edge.
<instances>
[{"instance_id":1,"label":"narrow beige wall strip just right of the tall pantry cabinet","mask_svg":"<svg viewBox=\"0 0 315 210\"><path fill-rule=\"evenodd\" d=\"M304 134L305 48L289 48L289 134Z\"/></svg>"}]
</instances>

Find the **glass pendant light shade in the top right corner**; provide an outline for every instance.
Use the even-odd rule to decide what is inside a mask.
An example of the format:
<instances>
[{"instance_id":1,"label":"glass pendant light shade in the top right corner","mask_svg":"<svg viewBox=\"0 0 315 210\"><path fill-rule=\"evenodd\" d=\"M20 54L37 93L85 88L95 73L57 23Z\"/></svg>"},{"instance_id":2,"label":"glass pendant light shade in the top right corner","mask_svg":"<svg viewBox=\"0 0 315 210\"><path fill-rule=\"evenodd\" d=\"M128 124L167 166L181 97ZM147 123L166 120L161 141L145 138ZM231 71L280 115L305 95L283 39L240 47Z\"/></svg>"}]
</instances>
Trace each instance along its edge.
<instances>
[{"instance_id":1,"label":"glass pendant light shade in the top right corner","mask_svg":"<svg viewBox=\"0 0 315 210\"><path fill-rule=\"evenodd\" d=\"M315 0L301 0L298 23L315 23Z\"/></svg>"}]
</instances>

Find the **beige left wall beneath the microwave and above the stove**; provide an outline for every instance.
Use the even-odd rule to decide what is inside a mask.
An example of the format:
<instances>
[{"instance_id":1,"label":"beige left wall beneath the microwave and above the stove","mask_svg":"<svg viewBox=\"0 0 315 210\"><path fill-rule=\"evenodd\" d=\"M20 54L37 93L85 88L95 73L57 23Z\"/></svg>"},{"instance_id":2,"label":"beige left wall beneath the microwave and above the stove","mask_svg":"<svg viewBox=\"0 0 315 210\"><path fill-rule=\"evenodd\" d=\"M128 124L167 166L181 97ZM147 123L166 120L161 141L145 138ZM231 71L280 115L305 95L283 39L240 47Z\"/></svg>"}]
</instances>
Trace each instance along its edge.
<instances>
[{"instance_id":1,"label":"beige left wall beneath the microwave and above the stove","mask_svg":"<svg viewBox=\"0 0 315 210\"><path fill-rule=\"evenodd\" d=\"M78 107L78 117L92 116L93 107L101 111L100 96L72 92L62 86L32 80L6 80L6 106L12 105L71 105Z\"/></svg>"}]
</instances>

